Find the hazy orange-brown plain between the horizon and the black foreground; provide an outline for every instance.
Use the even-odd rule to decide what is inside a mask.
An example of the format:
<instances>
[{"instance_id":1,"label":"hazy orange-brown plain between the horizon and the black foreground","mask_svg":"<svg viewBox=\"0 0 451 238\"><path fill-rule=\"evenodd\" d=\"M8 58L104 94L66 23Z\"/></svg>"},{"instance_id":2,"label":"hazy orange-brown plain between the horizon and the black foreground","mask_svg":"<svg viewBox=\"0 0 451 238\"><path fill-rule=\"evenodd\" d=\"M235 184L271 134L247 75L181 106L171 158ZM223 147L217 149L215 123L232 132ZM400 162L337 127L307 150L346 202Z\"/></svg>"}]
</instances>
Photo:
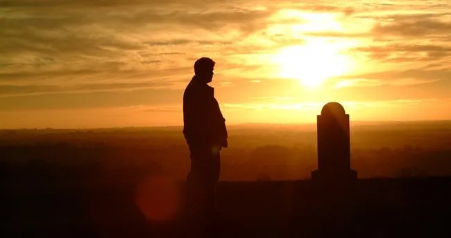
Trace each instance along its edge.
<instances>
[{"instance_id":1,"label":"hazy orange-brown plain between the horizon and the black foreground","mask_svg":"<svg viewBox=\"0 0 451 238\"><path fill-rule=\"evenodd\" d=\"M221 181L302 180L316 169L316 125L237 125L229 134ZM175 181L189 171L182 127L2 130L0 147L2 167L17 170L123 170L122 179L158 170ZM351 164L359 178L450 176L450 148L450 121L351 125Z\"/></svg>"}]
</instances>

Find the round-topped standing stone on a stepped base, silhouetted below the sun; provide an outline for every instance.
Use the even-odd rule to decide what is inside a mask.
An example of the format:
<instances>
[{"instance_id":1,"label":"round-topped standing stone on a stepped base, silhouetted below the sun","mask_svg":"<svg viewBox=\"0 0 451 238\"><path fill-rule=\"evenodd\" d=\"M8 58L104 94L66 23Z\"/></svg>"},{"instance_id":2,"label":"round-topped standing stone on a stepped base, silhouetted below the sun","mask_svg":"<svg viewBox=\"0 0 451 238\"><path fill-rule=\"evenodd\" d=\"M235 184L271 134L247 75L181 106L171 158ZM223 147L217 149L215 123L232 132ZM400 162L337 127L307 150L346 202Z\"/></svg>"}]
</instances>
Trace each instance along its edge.
<instances>
[{"instance_id":1,"label":"round-topped standing stone on a stepped base, silhouetted below the sun","mask_svg":"<svg viewBox=\"0 0 451 238\"><path fill-rule=\"evenodd\" d=\"M350 166L349 115L337 102L325 104L317 116L318 170L312 179L322 181L357 179Z\"/></svg>"}]
</instances>

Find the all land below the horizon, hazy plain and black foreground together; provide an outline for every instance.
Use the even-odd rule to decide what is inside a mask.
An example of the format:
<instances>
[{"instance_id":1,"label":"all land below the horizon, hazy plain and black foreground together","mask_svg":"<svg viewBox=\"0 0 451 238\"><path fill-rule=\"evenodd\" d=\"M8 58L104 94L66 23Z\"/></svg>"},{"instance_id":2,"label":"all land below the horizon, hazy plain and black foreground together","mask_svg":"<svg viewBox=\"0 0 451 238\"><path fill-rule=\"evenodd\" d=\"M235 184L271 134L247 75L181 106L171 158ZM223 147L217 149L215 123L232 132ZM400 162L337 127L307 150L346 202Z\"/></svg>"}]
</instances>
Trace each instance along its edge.
<instances>
[{"instance_id":1,"label":"all land below the horizon, hazy plain and black foreground together","mask_svg":"<svg viewBox=\"0 0 451 238\"><path fill-rule=\"evenodd\" d=\"M218 236L449 235L451 122L350 131L359 180L321 185L310 181L316 125L231 126ZM10 237L180 235L188 153L181 127L2 130L3 226Z\"/></svg>"}]
</instances>

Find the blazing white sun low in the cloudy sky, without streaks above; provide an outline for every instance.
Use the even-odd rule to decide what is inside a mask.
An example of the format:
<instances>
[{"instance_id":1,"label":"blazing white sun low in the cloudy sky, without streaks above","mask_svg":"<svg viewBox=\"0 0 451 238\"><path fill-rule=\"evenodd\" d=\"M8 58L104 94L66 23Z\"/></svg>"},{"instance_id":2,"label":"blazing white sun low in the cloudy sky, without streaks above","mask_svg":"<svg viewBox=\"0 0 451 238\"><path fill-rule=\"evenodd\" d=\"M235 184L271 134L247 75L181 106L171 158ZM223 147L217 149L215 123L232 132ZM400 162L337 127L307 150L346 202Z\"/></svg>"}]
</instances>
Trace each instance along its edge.
<instances>
[{"instance_id":1,"label":"blazing white sun low in the cloudy sky, without streaks above","mask_svg":"<svg viewBox=\"0 0 451 238\"><path fill-rule=\"evenodd\" d=\"M312 40L306 44L285 46L274 55L276 75L299 80L301 84L316 88L330 77L348 73L353 65L350 55L341 53L343 47Z\"/></svg>"}]
</instances>

